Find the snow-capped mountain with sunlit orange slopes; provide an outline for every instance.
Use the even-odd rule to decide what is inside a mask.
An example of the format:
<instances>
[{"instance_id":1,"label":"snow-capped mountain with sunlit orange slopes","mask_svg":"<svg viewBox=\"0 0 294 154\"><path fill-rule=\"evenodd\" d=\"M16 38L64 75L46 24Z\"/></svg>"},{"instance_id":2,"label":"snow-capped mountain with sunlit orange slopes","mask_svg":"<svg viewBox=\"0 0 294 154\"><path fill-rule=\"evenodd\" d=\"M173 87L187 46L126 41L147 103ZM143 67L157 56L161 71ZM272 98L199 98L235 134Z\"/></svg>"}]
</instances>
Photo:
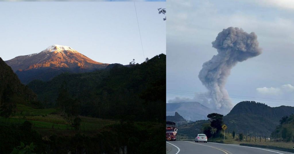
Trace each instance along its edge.
<instances>
[{"instance_id":1,"label":"snow-capped mountain with sunlit orange slopes","mask_svg":"<svg viewBox=\"0 0 294 154\"><path fill-rule=\"evenodd\" d=\"M5 62L25 84L34 79L48 81L64 72L91 72L108 65L63 45L51 45L39 53L17 56Z\"/></svg>"}]
</instances>

